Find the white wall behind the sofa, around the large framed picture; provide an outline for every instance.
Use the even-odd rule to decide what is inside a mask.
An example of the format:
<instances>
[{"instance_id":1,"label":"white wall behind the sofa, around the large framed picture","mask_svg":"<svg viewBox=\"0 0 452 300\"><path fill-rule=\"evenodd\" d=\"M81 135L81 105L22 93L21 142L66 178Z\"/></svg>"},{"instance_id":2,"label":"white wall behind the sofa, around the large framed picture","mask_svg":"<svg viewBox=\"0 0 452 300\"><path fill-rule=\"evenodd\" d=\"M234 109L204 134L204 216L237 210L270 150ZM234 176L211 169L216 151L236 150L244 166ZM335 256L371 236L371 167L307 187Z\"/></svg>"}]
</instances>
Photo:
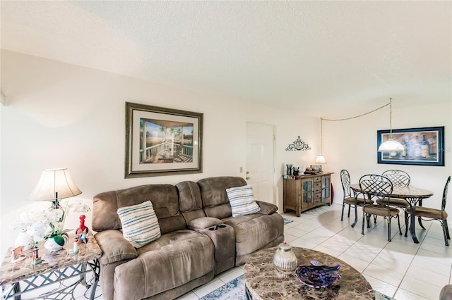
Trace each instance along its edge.
<instances>
[{"instance_id":1,"label":"white wall behind the sofa, around the large framed picture","mask_svg":"<svg viewBox=\"0 0 452 300\"><path fill-rule=\"evenodd\" d=\"M284 163L308 165L318 147L318 120L297 111L246 103L225 95L196 92L100 72L76 65L2 51L1 256L18 232L8 229L32 203L28 196L44 168L66 167L90 203L112 189L175 184L216 175L235 175L246 166L246 121L275 125L275 178L282 208ZM124 179L125 102L204 114L203 173ZM297 136L313 150L287 152ZM246 171L246 170L244 170ZM69 228L78 227L70 214ZM87 215L88 227L90 215Z\"/></svg>"}]
</instances>

